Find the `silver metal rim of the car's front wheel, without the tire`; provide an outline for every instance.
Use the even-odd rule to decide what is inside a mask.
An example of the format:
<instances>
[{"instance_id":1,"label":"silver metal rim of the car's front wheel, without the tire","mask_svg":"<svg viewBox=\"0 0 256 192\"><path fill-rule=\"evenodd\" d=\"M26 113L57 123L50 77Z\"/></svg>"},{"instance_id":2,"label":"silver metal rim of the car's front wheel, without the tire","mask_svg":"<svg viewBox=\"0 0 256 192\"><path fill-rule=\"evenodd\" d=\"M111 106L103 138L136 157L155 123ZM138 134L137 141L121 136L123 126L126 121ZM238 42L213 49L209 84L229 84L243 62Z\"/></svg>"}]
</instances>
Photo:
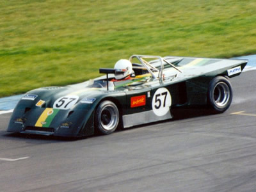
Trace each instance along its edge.
<instances>
[{"instance_id":1,"label":"silver metal rim of the car's front wheel, without the tire","mask_svg":"<svg viewBox=\"0 0 256 192\"><path fill-rule=\"evenodd\" d=\"M105 106L100 111L99 122L106 131L115 129L118 124L118 110L111 105Z\"/></svg>"}]
</instances>

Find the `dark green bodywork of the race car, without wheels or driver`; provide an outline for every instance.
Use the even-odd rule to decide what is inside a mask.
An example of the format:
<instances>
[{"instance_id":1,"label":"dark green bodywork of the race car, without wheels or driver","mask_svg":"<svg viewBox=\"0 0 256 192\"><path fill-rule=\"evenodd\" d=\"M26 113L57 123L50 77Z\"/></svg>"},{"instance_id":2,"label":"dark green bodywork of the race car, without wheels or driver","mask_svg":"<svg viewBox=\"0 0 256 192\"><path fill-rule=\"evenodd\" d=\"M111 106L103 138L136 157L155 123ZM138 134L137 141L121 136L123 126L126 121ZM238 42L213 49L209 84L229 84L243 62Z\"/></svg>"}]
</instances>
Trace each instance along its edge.
<instances>
[{"instance_id":1,"label":"dark green bodywork of the race car, without wheels or driver","mask_svg":"<svg viewBox=\"0 0 256 192\"><path fill-rule=\"evenodd\" d=\"M155 77L139 67L134 68L136 77L128 81L112 82L113 75L110 75L109 81L106 76L101 76L84 83L31 90L14 109L7 131L89 136L95 132L95 110L102 100L111 100L118 106L123 127L172 118L172 108L207 105L209 82L216 76L237 76L247 63L246 60L173 56L164 57L164 60L172 65L164 63L161 66L158 60L148 61L158 69L154 71ZM155 95L160 88L166 88L171 95L170 115L152 113L153 104L159 107L160 97L163 101L166 99L163 94L159 97ZM137 117L142 118L141 121L133 121Z\"/></svg>"}]
</instances>

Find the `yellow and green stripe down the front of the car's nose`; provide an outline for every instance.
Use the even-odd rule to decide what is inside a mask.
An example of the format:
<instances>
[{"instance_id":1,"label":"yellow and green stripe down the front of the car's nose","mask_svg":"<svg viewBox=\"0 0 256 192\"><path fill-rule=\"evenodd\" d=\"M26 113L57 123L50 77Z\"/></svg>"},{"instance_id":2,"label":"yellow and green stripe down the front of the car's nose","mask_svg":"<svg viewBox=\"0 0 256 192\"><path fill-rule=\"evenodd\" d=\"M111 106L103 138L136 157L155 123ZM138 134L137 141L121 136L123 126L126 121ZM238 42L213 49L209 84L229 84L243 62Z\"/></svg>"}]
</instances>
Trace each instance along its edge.
<instances>
[{"instance_id":1,"label":"yellow and green stripe down the front of the car's nose","mask_svg":"<svg viewBox=\"0 0 256 192\"><path fill-rule=\"evenodd\" d=\"M35 127L49 127L60 109L45 108L36 121Z\"/></svg>"}]
</instances>

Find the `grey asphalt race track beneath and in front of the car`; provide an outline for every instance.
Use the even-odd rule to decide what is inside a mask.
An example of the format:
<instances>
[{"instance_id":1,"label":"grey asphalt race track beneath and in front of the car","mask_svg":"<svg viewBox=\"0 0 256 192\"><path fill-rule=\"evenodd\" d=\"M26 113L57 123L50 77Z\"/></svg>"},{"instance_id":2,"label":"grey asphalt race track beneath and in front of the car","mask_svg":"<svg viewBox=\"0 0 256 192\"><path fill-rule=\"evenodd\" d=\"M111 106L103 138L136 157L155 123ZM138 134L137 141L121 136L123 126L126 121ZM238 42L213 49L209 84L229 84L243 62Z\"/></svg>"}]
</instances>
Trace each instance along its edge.
<instances>
[{"instance_id":1,"label":"grey asphalt race track beneath and in front of the car","mask_svg":"<svg viewBox=\"0 0 256 192\"><path fill-rule=\"evenodd\" d=\"M0 191L256 191L256 70L230 79L223 114L82 140L6 132L0 115Z\"/></svg>"}]
</instances>

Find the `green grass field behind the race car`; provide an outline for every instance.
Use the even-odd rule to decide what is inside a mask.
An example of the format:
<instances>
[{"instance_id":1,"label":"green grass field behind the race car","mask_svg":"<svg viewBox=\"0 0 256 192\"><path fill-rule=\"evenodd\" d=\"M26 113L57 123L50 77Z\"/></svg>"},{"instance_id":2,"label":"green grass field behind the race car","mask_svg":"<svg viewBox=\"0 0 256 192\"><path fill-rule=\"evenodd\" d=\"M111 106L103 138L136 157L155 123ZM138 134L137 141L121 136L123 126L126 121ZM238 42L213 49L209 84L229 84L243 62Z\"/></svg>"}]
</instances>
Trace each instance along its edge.
<instances>
[{"instance_id":1,"label":"green grass field behind the race car","mask_svg":"<svg viewBox=\"0 0 256 192\"><path fill-rule=\"evenodd\" d=\"M0 0L0 97L99 76L132 54L256 53L254 0Z\"/></svg>"}]
</instances>

